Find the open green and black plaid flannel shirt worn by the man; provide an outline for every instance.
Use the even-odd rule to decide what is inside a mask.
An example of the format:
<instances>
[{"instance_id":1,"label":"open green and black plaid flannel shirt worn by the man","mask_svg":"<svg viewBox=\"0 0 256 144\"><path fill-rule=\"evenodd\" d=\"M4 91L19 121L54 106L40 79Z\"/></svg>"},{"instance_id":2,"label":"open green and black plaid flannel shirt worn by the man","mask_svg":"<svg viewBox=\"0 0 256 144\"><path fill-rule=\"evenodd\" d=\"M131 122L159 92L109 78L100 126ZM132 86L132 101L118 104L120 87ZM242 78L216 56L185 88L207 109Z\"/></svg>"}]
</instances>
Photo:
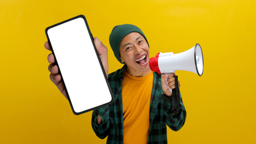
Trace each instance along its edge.
<instances>
[{"instance_id":1,"label":"open green and black plaid flannel shirt worn by the man","mask_svg":"<svg viewBox=\"0 0 256 144\"><path fill-rule=\"evenodd\" d=\"M109 84L115 101L93 111L91 125L100 139L108 136L107 143L124 143L122 82L124 65L120 70L108 75ZM163 100L160 74L154 73L153 88L150 101L150 127L148 143L167 143L166 124L171 130L178 131L186 121L186 110L180 98L180 113L171 112L171 101ZM97 116L102 122L97 124Z\"/></svg>"}]
</instances>

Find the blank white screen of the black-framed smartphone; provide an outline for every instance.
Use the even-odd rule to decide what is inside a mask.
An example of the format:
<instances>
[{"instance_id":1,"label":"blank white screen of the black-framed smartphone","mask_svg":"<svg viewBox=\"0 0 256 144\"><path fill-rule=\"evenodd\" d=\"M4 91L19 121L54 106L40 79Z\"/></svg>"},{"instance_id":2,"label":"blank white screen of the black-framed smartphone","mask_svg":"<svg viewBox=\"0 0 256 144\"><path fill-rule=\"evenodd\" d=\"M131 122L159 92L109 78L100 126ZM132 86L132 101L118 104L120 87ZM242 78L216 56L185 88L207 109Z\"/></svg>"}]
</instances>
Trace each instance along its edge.
<instances>
[{"instance_id":1,"label":"blank white screen of the black-framed smartphone","mask_svg":"<svg viewBox=\"0 0 256 144\"><path fill-rule=\"evenodd\" d=\"M47 31L75 112L112 100L90 34L81 17Z\"/></svg>"}]
</instances>

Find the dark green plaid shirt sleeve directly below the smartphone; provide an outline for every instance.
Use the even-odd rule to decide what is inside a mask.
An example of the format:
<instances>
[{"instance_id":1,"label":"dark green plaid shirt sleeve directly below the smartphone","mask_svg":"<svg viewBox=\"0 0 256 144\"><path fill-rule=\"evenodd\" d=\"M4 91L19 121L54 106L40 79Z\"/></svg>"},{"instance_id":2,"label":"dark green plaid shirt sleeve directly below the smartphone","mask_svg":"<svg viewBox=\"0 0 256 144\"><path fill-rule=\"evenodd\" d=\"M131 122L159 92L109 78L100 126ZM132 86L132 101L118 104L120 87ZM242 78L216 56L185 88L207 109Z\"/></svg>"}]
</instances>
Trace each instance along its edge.
<instances>
[{"instance_id":1,"label":"dark green plaid shirt sleeve directly below the smartphone","mask_svg":"<svg viewBox=\"0 0 256 144\"><path fill-rule=\"evenodd\" d=\"M97 117L100 115L102 122L97 124ZM93 115L91 118L91 125L93 127L94 133L100 139L104 139L109 134L109 107L103 106L99 109L93 110Z\"/></svg>"}]
</instances>

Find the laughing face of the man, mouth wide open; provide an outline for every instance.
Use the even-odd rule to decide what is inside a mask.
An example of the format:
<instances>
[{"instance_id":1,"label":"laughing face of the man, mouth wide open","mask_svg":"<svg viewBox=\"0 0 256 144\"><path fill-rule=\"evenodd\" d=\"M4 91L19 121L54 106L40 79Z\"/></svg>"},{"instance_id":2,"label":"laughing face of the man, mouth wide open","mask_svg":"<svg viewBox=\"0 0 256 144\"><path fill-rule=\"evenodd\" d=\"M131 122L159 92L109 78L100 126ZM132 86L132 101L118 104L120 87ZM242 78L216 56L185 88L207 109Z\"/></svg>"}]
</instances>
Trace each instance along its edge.
<instances>
[{"instance_id":1,"label":"laughing face of the man, mouth wide open","mask_svg":"<svg viewBox=\"0 0 256 144\"><path fill-rule=\"evenodd\" d=\"M148 43L138 32L132 32L123 38L120 44L120 57L127 65L127 72L132 76L145 75L151 71L148 65Z\"/></svg>"}]
</instances>

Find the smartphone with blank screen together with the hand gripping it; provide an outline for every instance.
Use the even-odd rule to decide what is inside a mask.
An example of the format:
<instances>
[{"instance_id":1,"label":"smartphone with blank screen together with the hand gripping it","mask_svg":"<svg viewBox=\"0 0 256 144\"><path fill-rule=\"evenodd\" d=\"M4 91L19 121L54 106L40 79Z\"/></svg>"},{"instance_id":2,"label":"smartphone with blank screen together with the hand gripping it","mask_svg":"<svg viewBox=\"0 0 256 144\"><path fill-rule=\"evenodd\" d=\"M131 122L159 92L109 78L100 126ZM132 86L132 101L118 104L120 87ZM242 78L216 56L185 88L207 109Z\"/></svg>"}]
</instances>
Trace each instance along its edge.
<instances>
[{"instance_id":1,"label":"smartphone with blank screen together with the hand gripping it","mask_svg":"<svg viewBox=\"0 0 256 144\"><path fill-rule=\"evenodd\" d=\"M85 16L49 26L46 36L49 41L46 49L50 47L54 56L54 59L52 55L48 57L52 63L49 65L51 80L60 91L64 87L75 115L114 102L107 80L108 49L98 38L93 40ZM61 81L56 73L61 76ZM63 91L62 94L65 95Z\"/></svg>"}]
</instances>

